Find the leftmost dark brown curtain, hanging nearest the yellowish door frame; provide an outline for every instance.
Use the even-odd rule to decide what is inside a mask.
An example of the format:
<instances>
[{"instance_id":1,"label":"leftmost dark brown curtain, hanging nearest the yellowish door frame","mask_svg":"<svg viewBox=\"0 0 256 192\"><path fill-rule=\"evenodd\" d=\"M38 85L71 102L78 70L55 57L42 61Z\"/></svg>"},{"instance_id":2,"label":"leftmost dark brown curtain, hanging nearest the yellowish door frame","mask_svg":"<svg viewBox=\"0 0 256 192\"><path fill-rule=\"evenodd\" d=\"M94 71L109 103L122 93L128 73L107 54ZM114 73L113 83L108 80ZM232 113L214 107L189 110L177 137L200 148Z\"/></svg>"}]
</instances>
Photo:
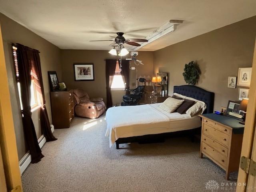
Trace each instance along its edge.
<instances>
[{"instance_id":1,"label":"leftmost dark brown curtain, hanging nearest the yellowish door frame","mask_svg":"<svg viewBox=\"0 0 256 192\"><path fill-rule=\"evenodd\" d=\"M30 106L30 86L31 86L31 69L32 63L30 58L32 58L32 49L29 49L23 45L17 44L17 59L18 59L18 70L19 70L19 82L20 82L20 92L21 92L21 102L22 102L22 124L24 129L24 135L28 148L30 150L32 163L39 162L42 155L41 149L38 145L36 138L36 131L31 118L31 106Z\"/></svg>"}]
</instances>

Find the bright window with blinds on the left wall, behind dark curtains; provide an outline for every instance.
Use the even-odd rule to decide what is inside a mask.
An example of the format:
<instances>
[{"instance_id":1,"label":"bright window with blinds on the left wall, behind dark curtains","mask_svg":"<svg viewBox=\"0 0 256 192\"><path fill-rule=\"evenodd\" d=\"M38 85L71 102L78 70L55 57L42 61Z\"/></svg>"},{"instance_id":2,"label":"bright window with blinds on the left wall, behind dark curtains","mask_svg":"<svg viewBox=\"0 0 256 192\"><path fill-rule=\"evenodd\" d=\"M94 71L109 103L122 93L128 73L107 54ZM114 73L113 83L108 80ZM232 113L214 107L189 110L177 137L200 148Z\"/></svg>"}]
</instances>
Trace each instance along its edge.
<instances>
[{"instance_id":1,"label":"bright window with blinds on the left wall, behind dark curtains","mask_svg":"<svg viewBox=\"0 0 256 192\"><path fill-rule=\"evenodd\" d=\"M21 88L20 88L20 82L19 82L19 69L18 69L18 60L17 60L17 48L15 46L12 47L13 49L13 57L14 57L14 65L15 65L15 73L16 73L16 80L17 80L17 86L18 86L18 93L20 98L20 108L23 110L22 102L21 102ZM31 72L32 74L32 72ZM30 86L30 92L31 92L31 101L30 106L31 109L34 109L38 107L40 104L38 103L38 93L35 88L35 83L33 80L33 77L31 76L31 86Z\"/></svg>"}]
</instances>

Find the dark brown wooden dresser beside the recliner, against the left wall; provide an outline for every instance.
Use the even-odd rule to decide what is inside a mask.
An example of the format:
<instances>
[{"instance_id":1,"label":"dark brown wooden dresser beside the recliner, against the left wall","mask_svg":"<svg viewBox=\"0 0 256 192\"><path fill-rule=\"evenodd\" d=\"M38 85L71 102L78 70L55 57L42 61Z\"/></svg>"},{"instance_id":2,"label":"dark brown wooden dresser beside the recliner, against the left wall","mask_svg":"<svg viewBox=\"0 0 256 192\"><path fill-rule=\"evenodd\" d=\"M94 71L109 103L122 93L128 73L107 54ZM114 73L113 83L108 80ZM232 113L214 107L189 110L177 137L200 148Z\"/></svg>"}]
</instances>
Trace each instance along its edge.
<instances>
[{"instance_id":1,"label":"dark brown wooden dresser beside the recliner, against the left wall","mask_svg":"<svg viewBox=\"0 0 256 192\"><path fill-rule=\"evenodd\" d=\"M50 96L54 128L69 128L74 119L73 90L51 92Z\"/></svg>"}]
</instances>

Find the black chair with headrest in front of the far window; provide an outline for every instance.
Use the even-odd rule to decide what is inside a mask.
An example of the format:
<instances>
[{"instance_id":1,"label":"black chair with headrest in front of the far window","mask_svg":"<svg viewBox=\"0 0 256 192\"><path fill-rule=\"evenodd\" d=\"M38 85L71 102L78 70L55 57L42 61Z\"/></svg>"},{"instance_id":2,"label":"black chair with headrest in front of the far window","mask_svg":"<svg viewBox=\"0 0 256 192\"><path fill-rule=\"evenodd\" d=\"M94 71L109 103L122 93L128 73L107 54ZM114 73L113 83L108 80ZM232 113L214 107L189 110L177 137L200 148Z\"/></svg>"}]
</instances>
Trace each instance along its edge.
<instances>
[{"instance_id":1,"label":"black chair with headrest in front of the far window","mask_svg":"<svg viewBox=\"0 0 256 192\"><path fill-rule=\"evenodd\" d=\"M140 98L142 98L144 93L144 88L146 85L146 79L144 78L138 78L139 86L135 89L126 89L126 92L133 92L133 94L127 94L123 96L123 101L121 103L122 106L128 106L128 105L138 105L138 101ZM144 83L144 85L140 85L140 83Z\"/></svg>"}]
</instances>

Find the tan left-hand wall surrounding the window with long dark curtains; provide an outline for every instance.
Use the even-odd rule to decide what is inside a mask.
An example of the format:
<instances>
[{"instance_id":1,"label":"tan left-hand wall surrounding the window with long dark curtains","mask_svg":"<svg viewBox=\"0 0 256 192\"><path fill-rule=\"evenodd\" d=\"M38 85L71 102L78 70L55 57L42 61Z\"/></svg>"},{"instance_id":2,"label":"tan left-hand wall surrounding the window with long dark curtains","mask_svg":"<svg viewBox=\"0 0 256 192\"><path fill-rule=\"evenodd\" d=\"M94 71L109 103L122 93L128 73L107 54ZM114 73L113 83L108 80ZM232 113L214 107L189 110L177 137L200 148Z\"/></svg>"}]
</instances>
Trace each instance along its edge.
<instances>
[{"instance_id":1,"label":"tan left-hand wall surrounding the window with long dark curtains","mask_svg":"<svg viewBox=\"0 0 256 192\"><path fill-rule=\"evenodd\" d=\"M4 43L4 52L6 58L6 68L8 73L8 83L11 95L12 112L14 119L14 127L16 134L16 142L18 147L19 159L27 152L25 147L24 132L22 120L20 117L20 102L18 99L17 86L14 76L13 59L12 59L12 43L20 43L30 48L40 51L40 60L42 68L42 77L44 83L44 94L46 98L46 108L48 110L50 122L52 122L50 108L50 89L48 83L47 71L57 71L59 80L62 80L62 71L60 65L60 49L27 28L14 22L10 18L0 14L2 36ZM40 124L38 122L37 112L33 113L33 121L36 127L37 137L42 134Z\"/></svg>"}]
</instances>

